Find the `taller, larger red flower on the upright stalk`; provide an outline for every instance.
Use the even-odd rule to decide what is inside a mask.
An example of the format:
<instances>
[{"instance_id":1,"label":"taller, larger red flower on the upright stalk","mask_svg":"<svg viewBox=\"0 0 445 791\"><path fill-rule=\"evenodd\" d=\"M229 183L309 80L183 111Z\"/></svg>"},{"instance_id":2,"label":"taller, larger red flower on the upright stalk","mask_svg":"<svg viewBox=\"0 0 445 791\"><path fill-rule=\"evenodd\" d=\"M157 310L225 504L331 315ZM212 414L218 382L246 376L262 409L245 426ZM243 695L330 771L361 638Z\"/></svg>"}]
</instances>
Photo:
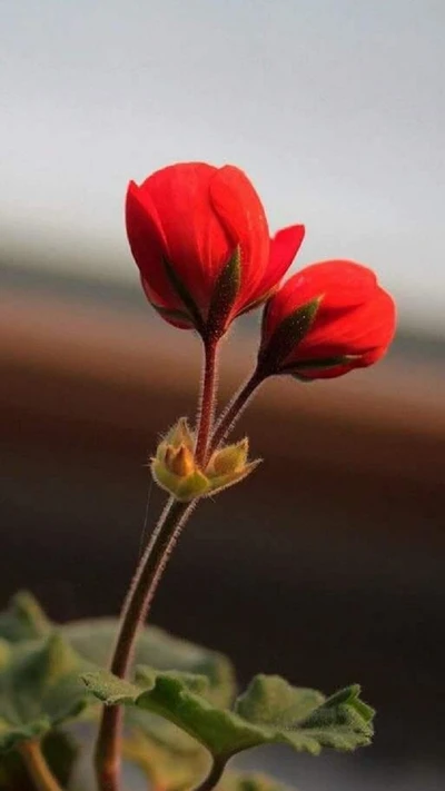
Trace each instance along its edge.
<instances>
[{"instance_id":1,"label":"taller, larger red flower on the upright stalk","mask_svg":"<svg viewBox=\"0 0 445 791\"><path fill-rule=\"evenodd\" d=\"M127 234L147 298L170 324L220 336L263 303L290 266L304 227L269 240L261 202L227 165L171 165L130 182Z\"/></svg>"}]
</instances>

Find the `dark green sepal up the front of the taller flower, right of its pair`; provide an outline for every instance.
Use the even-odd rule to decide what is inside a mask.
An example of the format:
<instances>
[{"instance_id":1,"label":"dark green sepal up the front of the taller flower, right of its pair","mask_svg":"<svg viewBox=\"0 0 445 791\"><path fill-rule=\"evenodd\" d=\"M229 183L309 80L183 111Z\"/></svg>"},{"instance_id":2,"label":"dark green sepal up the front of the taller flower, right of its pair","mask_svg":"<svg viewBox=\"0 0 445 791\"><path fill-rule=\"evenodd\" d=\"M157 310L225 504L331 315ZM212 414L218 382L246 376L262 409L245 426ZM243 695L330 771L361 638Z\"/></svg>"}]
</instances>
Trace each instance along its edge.
<instances>
[{"instance_id":1,"label":"dark green sepal up the front of the taller flower, right of its pair","mask_svg":"<svg viewBox=\"0 0 445 791\"><path fill-rule=\"evenodd\" d=\"M226 332L240 285L241 250L238 246L222 267L214 286L207 317L207 333L210 337L219 338Z\"/></svg>"}]
</instances>

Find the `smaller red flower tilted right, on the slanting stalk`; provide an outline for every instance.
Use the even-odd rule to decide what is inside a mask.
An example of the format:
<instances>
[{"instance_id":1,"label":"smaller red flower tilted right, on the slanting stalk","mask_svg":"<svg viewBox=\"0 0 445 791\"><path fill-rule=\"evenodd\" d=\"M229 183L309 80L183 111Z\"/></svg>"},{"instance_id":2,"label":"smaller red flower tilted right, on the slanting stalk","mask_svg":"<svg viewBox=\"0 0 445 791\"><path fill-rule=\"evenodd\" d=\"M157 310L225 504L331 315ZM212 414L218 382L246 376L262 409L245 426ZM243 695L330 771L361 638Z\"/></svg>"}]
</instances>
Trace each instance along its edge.
<instances>
[{"instance_id":1,"label":"smaller red flower tilted right, on the slanting stalk","mask_svg":"<svg viewBox=\"0 0 445 791\"><path fill-rule=\"evenodd\" d=\"M370 269L342 260L313 264L267 303L259 370L342 376L383 357L394 330L394 301Z\"/></svg>"}]
</instances>

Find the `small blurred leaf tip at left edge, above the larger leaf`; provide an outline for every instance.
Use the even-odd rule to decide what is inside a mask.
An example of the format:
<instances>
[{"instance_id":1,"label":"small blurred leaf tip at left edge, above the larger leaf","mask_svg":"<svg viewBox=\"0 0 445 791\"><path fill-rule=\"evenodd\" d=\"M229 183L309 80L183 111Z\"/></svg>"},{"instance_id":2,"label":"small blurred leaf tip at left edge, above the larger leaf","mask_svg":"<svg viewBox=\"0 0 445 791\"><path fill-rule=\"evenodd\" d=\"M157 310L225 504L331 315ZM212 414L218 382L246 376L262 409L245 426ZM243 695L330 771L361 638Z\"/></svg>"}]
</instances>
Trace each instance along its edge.
<instances>
[{"instance_id":1,"label":"small blurred leaf tip at left edge, above the larger leaf","mask_svg":"<svg viewBox=\"0 0 445 791\"><path fill-rule=\"evenodd\" d=\"M38 601L28 591L20 591L10 601L8 610L0 613L0 637L10 643L46 637L52 631Z\"/></svg>"}]
</instances>

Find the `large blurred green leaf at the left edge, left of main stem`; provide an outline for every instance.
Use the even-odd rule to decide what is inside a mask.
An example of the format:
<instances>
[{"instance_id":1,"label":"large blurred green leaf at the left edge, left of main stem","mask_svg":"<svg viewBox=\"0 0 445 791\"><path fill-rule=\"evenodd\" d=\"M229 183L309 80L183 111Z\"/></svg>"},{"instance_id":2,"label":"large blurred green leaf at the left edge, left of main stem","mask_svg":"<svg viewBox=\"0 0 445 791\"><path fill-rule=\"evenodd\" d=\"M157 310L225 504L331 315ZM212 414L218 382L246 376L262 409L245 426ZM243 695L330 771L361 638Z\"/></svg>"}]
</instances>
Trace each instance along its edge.
<instances>
[{"instance_id":1,"label":"large blurred green leaf at the left edge, left of main stem","mask_svg":"<svg viewBox=\"0 0 445 791\"><path fill-rule=\"evenodd\" d=\"M91 704L80 681L87 668L57 633L12 645L0 670L0 752L43 736Z\"/></svg>"}]
</instances>

